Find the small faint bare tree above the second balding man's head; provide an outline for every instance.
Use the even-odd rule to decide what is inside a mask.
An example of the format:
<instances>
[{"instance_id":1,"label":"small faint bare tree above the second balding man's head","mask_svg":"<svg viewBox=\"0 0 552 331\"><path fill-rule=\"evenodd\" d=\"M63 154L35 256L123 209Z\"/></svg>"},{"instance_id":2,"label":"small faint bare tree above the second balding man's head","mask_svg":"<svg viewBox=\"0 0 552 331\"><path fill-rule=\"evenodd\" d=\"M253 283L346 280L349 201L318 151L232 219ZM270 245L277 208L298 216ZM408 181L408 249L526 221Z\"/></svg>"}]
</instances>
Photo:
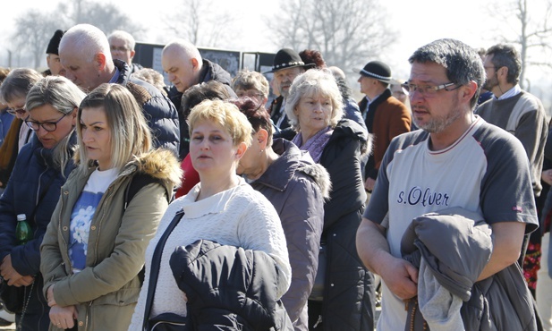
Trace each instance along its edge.
<instances>
[{"instance_id":1,"label":"small faint bare tree above the second balding man's head","mask_svg":"<svg viewBox=\"0 0 552 331\"><path fill-rule=\"evenodd\" d=\"M194 45L220 47L221 40L232 33L234 15L220 13L210 0L181 0L178 8L181 9L166 20L166 27Z\"/></svg>"}]
</instances>

